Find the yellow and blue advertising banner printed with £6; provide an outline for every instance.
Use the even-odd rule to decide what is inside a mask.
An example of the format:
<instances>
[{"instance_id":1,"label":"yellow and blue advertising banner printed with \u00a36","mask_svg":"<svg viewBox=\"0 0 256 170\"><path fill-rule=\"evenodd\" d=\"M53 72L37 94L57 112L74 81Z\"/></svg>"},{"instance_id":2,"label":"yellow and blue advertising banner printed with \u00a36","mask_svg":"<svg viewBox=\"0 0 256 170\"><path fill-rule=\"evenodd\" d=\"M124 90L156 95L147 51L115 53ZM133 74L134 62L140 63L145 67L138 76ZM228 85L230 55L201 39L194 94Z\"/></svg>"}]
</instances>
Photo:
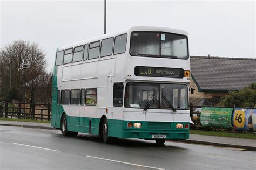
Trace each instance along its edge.
<instances>
[{"instance_id":1,"label":"yellow and blue advertising banner printed with \u00a36","mask_svg":"<svg viewBox=\"0 0 256 170\"><path fill-rule=\"evenodd\" d=\"M233 124L234 129L256 130L256 109L235 108Z\"/></svg>"}]
</instances>

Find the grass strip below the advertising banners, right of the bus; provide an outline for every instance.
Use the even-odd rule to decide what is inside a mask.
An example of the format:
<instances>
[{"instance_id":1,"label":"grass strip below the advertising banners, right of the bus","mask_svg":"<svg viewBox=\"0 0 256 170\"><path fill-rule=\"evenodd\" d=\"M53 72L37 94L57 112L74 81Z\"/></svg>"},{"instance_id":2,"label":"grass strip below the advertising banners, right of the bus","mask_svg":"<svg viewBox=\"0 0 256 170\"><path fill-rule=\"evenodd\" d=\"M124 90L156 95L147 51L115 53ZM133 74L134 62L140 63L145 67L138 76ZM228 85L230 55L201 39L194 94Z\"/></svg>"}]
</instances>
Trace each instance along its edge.
<instances>
[{"instance_id":1,"label":"grass strip below the advertising banners, right of the bus","mask_svg":"<svg viewBox=\"0 0 256 170\"><path fill-rule=\"evenodd\" d=\"M228 131L205 131L205 130L191 129L190 134L231 137L231 138L244 138L244 139L256 139L256 134L253 134L253 133L235 133L235 132L228 132Z\"/></svg>"}]
</instances>

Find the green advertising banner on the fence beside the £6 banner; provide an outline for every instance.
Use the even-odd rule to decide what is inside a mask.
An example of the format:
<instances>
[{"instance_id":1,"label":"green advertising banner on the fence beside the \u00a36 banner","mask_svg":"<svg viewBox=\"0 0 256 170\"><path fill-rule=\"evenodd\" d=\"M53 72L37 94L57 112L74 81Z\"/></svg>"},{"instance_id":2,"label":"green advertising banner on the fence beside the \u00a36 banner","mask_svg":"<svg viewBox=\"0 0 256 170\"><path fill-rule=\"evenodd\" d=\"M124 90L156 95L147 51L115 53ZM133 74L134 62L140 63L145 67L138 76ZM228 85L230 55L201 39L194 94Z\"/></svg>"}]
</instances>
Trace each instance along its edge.
<instances>
[{"instance_id":1,"label":"green advertising banner on the fence beside the \u00a36 banner","mask_svg":"<svg viewBox=\"0 0 256 170\"><path fill-rule=\"evenodd\" d=\"M200 122L203 127L232 128L233 108L203 107Z\"/></svg>"}]
</instances>

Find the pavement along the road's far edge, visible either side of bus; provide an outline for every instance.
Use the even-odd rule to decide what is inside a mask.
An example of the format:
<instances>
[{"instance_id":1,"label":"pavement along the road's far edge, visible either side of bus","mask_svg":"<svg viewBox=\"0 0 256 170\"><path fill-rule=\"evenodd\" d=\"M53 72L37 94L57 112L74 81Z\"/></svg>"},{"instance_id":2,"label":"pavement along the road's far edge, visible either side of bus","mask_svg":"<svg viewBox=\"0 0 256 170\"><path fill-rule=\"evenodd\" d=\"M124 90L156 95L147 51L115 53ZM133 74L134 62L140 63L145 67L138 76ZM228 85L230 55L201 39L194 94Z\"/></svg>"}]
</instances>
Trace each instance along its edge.
<instances>
[{"instance_id":1,"label":"pavement along the road's far edge, visible either side of bus","mask_svg":"<svg viewBox=\"0 0 256 170\"><path fill-rule=\"evenodd\" d=\"M19 126L24 128L55 129L50 123L0 121L0 126ZM256 134L252 134L256 135ZM177 141L179 143L190 143L200 145L212 145L220 147L241 148L256 151L256 140L231 137L204 136L190 134L190 139Z\"/></svg>"}]
</instances>

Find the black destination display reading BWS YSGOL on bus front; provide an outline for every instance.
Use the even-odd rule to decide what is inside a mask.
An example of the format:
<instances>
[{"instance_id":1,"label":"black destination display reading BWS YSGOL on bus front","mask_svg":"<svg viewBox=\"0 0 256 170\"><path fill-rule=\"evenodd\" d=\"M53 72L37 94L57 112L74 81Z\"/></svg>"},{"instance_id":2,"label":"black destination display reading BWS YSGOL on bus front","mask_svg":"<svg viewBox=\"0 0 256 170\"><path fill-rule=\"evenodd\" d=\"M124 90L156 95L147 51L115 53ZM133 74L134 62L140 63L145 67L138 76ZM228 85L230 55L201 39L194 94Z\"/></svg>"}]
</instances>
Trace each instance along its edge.
<instances>
[{"instance_id":1,"label":"black destination display reading BWS YSGOL on bus front","mask_svg":"<svg viewBox=\"0 0 256 170\"><path fill-rule=\"evenodd\" d=\"M143 67L136 66L134 74L136 76L147 77L171 77L183 78L184 70L182 68L165 68L165 67Z\"/></svg>"}]
</instances>

